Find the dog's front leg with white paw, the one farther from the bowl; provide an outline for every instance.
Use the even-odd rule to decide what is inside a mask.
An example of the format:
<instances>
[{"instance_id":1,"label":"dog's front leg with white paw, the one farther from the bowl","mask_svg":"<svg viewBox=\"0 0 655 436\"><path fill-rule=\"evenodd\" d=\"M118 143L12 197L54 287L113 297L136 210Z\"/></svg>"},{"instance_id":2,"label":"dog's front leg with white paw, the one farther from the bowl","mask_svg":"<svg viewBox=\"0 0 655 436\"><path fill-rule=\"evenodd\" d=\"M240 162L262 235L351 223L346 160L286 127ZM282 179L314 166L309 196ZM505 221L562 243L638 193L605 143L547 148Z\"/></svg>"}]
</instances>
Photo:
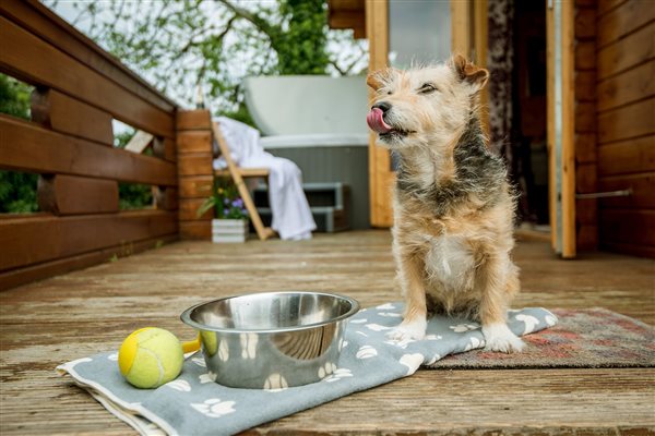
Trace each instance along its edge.
<instances>
[{"instance_id":1,"label":"dog's front leg with white paw, the one farther from the bowl","mask_svg":"<svg viewBox=\"0 0 655 436\"><path fill-rule=\"evenodd\" d=\"M511 353L521 351L524 343L507 324L508 304L517 286L517 269L504 253L485 257L476 271L476 286L481 287L479 318L483 324L486 348Z\"/></svg>"}]
</instances>

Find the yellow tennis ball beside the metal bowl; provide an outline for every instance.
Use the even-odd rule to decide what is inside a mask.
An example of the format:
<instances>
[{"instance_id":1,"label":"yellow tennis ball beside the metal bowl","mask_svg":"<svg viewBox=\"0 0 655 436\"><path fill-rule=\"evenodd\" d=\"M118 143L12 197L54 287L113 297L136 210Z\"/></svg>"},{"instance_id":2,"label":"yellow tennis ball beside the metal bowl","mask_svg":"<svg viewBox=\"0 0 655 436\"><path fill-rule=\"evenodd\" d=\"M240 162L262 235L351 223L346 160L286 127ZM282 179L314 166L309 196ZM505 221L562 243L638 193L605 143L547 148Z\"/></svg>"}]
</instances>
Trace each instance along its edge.
<instances>
[{"instance_id":1,"label":"yellow tennis ball beside the metal bowl","mask_svg":"<svg viewBox=\"0 0 655 436\"><path fill-rule=\"evenodd\" d=\"M118 366L138 388L157 388L182 371L182 344L170 331L146 327L126 338L118 351Z\"/></svg>"}]
</instances>

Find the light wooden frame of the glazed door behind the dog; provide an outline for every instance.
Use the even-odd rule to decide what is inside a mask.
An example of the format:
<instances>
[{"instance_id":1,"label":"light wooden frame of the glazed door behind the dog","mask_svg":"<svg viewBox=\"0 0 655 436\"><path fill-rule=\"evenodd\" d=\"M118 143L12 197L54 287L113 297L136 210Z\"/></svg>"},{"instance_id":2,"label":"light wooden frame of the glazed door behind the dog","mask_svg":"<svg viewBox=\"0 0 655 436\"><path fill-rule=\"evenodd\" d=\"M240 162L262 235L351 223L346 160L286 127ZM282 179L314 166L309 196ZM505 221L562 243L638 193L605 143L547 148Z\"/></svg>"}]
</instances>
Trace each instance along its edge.
<instances>
[{"instance_id":1,"label":"light wooden frame of the glazed door behind the dog","mask_svg":"<svg viewBox=\"0 0 655 436\"><path fill-rule=\"evenodd\" d=\"M466 56L478 65L487 58L487 0L451 0L451 50ZM366 0L366 32L369 40L369 71L389 64L389 1ZM485 92L483 102L488 97ZM483 120L488 124L488 119ZM395 181L388 149L376 145L377 135L369 138L369 192L372 227L391 227L393 210L391 190Z\"/></svg>"}]
</instances>

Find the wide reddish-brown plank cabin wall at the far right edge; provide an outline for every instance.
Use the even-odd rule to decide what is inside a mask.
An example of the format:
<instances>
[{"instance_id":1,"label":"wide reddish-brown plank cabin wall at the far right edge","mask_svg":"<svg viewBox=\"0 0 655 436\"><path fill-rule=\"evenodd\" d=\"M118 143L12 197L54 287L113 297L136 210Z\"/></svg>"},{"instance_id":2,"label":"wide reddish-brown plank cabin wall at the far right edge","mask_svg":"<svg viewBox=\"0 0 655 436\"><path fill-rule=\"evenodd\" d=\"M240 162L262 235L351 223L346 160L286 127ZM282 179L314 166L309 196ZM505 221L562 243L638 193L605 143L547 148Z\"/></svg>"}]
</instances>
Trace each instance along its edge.
<instances>
[{"instance_id":1,"label":"wide reddish-brown plank cabin wall at the far right edge","mask_svg":"<svg viewBox=\"0 0 655 436\"><path fill-rule=\"evenodd\" d=\"M596 11L597 187L600 247L655 257L655 8L602 0Z\"/></svg>"}]
</instances>

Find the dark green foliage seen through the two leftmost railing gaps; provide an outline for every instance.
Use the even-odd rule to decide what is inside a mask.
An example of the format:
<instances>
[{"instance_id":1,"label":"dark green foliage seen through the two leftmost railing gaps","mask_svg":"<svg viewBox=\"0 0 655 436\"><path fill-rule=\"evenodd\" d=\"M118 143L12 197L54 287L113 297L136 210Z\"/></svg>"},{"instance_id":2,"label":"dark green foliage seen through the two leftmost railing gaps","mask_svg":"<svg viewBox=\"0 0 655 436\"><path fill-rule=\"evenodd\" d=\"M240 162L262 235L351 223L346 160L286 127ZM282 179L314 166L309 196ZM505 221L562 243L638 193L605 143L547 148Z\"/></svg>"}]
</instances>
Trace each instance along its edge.
<instances>
[{"instance_id":1,"label":"dark green foliage seen through the two leftmost railing gaps","mask_svg":"<svg viewBox=\"0 0 655 436\"><path fill-rule=\"evenodd\" d=\"M29 119L32 86L0 74L0 112ZM26 214L38 210L37 174L0 171L0 214Z\"/></svg>"}]
</instances>

